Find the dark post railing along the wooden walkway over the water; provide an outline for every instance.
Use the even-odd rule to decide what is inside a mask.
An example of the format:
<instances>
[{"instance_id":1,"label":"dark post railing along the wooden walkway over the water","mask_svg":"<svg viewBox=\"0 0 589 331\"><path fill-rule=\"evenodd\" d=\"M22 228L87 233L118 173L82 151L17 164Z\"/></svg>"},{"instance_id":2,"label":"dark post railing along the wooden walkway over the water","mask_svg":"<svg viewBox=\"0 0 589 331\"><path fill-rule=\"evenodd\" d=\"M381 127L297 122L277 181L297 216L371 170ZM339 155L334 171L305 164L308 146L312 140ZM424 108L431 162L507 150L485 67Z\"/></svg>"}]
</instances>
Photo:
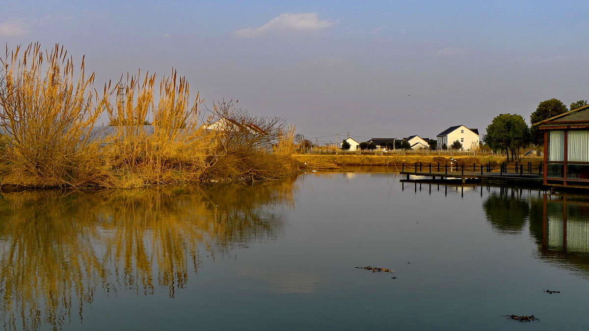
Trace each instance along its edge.
<instances>
[{"instance_id":1,"label":"dark post railing along the wooden walkway over the water","mask_svg":"<svg viewBox=\"0 0 589 331\"><path fill-rule=\"evenodd\" d=\"M413 173L440 174L443 171L444 174L460 173L462 176L464 176L465 171L467 171L467 174L468 171L471 171L472 173L480 172L481 176L484 173L499 173L499 176L503 176L504 174L506 176L514 174L519 176L524 176L524 174L541 176L543 168L544 164L542 163L542 161L540 161L540 164L537 165L532 164L531 161L528 161L527 163L518 161L514 164L502 162L498 166L491 166L490 162L487 164L481 163L478 165L476 163L473 163L472 166L465 166L465 164L459 165L458 163L440 164L439 162L437 164L424 164L423 162L416 162L414 164L402 163L401 165L402 172L411 172L411 170L413 170Z\"/></svg>"}]
</instances>

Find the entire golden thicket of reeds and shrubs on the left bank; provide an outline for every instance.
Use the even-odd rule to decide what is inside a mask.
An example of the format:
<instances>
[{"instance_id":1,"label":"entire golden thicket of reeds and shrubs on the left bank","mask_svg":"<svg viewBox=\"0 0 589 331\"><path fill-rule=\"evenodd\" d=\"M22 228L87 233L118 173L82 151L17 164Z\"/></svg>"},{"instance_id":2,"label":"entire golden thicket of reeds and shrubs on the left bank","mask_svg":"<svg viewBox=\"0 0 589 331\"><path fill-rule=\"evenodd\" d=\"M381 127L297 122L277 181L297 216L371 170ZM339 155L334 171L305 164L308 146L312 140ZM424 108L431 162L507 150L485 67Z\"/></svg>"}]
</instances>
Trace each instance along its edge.
<instances>
[{"instance_id":1,"label":"entire golden thicket of reeds and shrubs on the left bank","mask_svg":"<svg viewBox=\"0 0 589 331\"><path fill-rule=\"evenodd\" d=\"M207 120L200 95L176 71L128 75L102 94L63 47L29 45L0 58L0 184L111 187L263 181L294 170L294 128L219 102ZM95 124L106 113L110 126ZM153 118L152 125L148 118ZM221 121L228 127L210 124Z\"/></svg>"}]
</instances>

